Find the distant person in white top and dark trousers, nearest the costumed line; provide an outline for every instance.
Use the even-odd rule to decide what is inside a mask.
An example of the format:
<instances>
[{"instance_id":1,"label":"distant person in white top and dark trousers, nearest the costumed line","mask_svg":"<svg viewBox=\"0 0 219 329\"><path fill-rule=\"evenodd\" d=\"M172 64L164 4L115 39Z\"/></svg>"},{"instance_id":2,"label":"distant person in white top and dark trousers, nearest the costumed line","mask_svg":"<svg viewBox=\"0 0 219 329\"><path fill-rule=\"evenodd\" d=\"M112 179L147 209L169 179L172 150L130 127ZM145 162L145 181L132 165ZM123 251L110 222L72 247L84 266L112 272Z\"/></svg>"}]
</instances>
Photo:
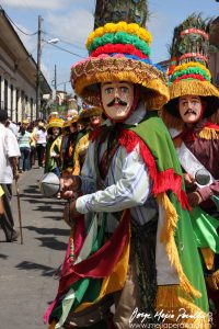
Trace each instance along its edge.
<instances>
[{"instance_id":1,"label":"distant person in white top and dark trousers, nearest the costumed line","mask_svg":"<svg viewBox=\"0 0 219 329\"><path fill-rule=\"evenodd\" d=\"M46 150L46 136L47 132L45 129L44 123L38 123L38 131L36 132L36 152L38 158L38 167L43 168L45 150Z\"/></svg>"}]
</instances>

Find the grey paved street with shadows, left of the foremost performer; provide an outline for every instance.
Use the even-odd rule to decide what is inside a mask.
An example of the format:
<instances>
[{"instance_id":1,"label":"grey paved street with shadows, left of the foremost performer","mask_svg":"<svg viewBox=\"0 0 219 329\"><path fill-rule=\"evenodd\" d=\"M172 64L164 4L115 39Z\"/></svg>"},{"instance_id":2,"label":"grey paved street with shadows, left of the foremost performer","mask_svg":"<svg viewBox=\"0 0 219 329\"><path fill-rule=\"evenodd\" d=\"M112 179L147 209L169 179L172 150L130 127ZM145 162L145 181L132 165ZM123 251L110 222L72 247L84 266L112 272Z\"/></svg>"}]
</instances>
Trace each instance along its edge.
<instances>
[{"instance_id":1,"label":"grey paved street with shadows, left of the foremost performer","mask_svg":"<svg viewBox=\"0 0 219 329\"><path fill-rule=\"evenodd\" d=\"M0 329L45 329L43 314L54 299L69 229L61 220L64 202L39 193L42 169L19 180L24 243L4 241L0 230ZM15 189L12 200L19 227Z\"/></svg>"}]
</instances>

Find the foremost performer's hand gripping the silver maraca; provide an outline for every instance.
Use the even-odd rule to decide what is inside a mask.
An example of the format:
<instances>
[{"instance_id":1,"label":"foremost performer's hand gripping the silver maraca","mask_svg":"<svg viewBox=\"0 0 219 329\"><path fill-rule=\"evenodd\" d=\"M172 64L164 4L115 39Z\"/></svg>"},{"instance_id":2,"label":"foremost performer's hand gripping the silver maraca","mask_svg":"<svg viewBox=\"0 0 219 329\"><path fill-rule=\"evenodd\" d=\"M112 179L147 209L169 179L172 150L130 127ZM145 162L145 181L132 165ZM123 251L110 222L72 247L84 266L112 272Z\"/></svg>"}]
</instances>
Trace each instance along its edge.
<instances>
[{"instance_id":1,"label":"foremost performer's hand gripping the silver maraca","mask_svg":"<svg viewBox=\"0 0 219 329\"><path fill-rule=\"evenodd\" d=\"M76 193L81 189L81 179L79 175L67 175L60 179L61 197L74 198Z\"/></svg>"}]
</instances>

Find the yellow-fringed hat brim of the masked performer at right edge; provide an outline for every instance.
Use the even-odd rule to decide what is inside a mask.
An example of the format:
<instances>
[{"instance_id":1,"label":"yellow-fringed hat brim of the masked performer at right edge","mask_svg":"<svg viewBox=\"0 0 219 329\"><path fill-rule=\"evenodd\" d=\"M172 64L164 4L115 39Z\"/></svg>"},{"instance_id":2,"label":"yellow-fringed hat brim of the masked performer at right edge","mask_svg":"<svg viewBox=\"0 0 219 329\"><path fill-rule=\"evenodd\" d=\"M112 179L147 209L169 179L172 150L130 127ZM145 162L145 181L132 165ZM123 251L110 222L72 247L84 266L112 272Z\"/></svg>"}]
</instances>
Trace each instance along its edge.
<instances>
[{"instance_id":1,"label":"yellow-fringed hat brim of the masked performer at right edge","mask_svg":"<svg viewBox=\"0 0 219 329\"><path fill-rule=\"evenodd\" d=\"M219 109L219 91L212 83L198 80L182 80L170 86L171 100L164 105L164 110L171 115L180 117L178 98L183 95L199 95L200 98L205 98L207 106L204 117L212 115Z\"/></svg>"}]
</instances>

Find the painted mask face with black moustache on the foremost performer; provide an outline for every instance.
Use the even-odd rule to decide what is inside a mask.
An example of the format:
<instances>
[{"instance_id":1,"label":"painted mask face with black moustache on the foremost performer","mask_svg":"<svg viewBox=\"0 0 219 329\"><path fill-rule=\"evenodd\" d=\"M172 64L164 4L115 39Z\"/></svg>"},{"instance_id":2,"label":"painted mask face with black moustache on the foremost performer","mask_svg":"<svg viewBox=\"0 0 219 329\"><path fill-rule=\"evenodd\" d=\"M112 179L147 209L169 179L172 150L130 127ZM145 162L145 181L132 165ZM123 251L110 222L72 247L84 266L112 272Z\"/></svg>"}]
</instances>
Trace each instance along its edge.
<instances>
[{"instance_id":1,"label":"painted mask face with black moustache on the foremost performer","mask_svg":"<svg viewBox=\"0 0 219 329\"><path fill-rule=\"evenodd\" d=\"M106 115L113 121L123 121L134 102L134 84L125 81L102 83L101 97Z\"/></svg>"}]
</instances>

